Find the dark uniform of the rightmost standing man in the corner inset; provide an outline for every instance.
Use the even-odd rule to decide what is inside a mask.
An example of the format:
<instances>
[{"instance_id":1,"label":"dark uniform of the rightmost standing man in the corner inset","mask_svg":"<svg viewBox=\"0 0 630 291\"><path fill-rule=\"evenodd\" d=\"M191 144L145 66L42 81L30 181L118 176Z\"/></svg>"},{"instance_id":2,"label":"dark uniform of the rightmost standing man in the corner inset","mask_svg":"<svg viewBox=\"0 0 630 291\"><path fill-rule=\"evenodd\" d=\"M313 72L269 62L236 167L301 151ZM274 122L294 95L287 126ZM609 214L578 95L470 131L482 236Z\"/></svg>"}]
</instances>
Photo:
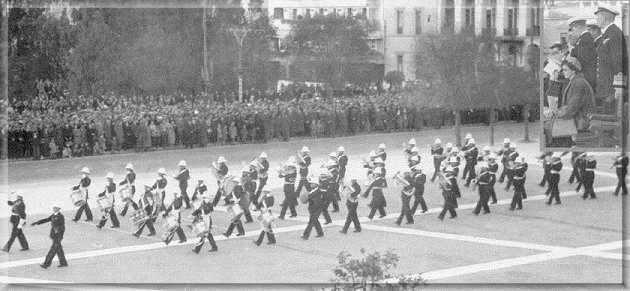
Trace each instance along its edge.
<instances>
[{"instance_id":1,"label":"dark uniform of the rightmost standing man in the corner inset","mask_svg":"<svg viewBox=\"0 0 630 291\"><path fill-rule=\"evenodd\" d=\"M604 28L602 28L604 29ZM613 87L614 76L623 72L628 75L628 56L626 39L617 25L611 24L602 31L598 40L597 51L597 99L598 105L603 104L615 94Z\"/></svg>"}]
</instances>

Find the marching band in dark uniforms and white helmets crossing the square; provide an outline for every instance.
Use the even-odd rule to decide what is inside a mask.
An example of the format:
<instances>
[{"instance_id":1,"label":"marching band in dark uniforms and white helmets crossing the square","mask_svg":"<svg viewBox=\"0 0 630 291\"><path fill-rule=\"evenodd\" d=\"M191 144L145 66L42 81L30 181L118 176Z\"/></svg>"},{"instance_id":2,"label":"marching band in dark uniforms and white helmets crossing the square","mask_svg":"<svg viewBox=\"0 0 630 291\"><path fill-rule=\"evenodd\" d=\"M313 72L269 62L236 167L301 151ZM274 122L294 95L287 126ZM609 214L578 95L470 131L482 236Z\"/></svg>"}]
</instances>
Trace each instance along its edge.
<instances>
[{"instance_id":1,"label":"marching band in dark uniforms and white helmets crossing the square","mask_svg":"<svg viewBox=\"0 0 630 291\"><path fill-rule=\"evenodd\" d=\"M400 193L402 208L395 221L397 225L401 225L403 220L406 224L413 224L414 214L418 208L422 213L428 211L427 203L424 200L428 175L422 169L422 159L416 140L411 139L408 144L403 144L403 148L407 156L407 169L391 176L394 182L402 187ZM457 200L462 195L458 178L462 179L463 187L470 187L473 192L478 191L479 199L473 210L474 215L490 213L489 204L497 203L495 192L497 182L504 183L504 190L506 191L513 187L513 197L509 209L512 211L523 209L522 200L527 199L525 181L528 163L527 158L517 151L516 145L509 139L506 138L503 141L503 147L497 152L492 151L488 146L483 147L480 151L475 139L470 134L466 135L464 146L461 148L454 147L451 143L447 143L443 147L442 141L436 139L430 154L432 161L429 163L433 164L433 173L430 173L431 178L428 181L432 183L437 181L444 199L443 210L438 215L440 220L443 220L447 213L451 219L457 217ZM567 153L546 152L537 157L544 168L544 176L539 186L547 185L545 192L549 196L547 205L551 205L554 201L555 204L561 203L558 185L563 166L561 157L565 154ZM460 177L459 170L462 159L464 167ZM339 147L337 151L331 152L328 159L319 167L314 167L315 169L309 169L313 166L313 161L309 155L308 147L304 146L296 155L290 156L285 163L282 163L278 170L277 177L284 181L284 199L280 203L280 213L277 216L271 210L275 205L275 198L269 190L265 189L270 168L265 152L245 165L240 173L239 171L230 171L224 157L219 157L216 162L213 162L210 166L210 172L213 178L217 180L218 186L214 195L208 191L204 179L199 178L192 195L189 196L188 181L191 179L191 175L186 161L180 161L179 171L172 177L177 181L179 191L173 193L172 202L169 205L165 204L166 186L169 182L165 168L157 170L158 177L153 185L144 185L144 188L140 188L143 191L136 195L136 174L131 163L125 166L125 179L119 183L114 182L113 172L107 173L104 190L97 194L90 191L90 188L94 187L90 178L90 169L83 167L79 183L71 188L71 199L77 207L72 221L77 222L84 212L86 221L93 220L93 213L88 203L89 194L93 194L92 197L96 195L96 202L100 208L98 213L100 220L96 225L98 229L102 229L107 221L111 221L112 228L120 227L119 216L125 217L129 206L131 206L133 210L130 212L129 219L135 226L133 235L139 237L145 228L149 231L147 236L156 235L154 224L161 218L165 227L162 240L168 245L175 234L177 234L180 243L187 241L186 232L182 227L184 221L182 212L192 209L186 220L189 223L184 226L187 226L193 237L199 239L192 250L198 254L206 240L210 243L210 252L218 250L211 231L212 213L221 201L223 201L231 217L230 224L223 235L230 237L234 230L237 232L236 236L245 235L243 223L253 223L253 216L256 216L257 220L260 221L261 230L260 235L253 243L260 246L265 236L268 244L276 243L273 232L275 219L285 219L287 211L290 218L296 217L298 215L296 208L299 206L299 202L308 204L309 212L308 225L302 238L308 240L313 228L315 228L317 237L324 236L319 217L324 217L325 224L332 223L329 208L332 205L330 211L339 212L339 203L344 198L348 212L340 232L347 234L351 224L354 226L355 232L360 232L361 223L357 213L359 196L363 198L371 196L371 201L368 204L370 208L367 215L368 219L373 219L377 212L379 218L387 216L387 200L384 193L388 188L386 161L386 146L380 144L376 150L370 152L369 157L362 159L365 181L359 183L357 173L347 172L349 161L343 146ZM499 161L502 165L500 173ZM569 178L569 183L578 182L576 191L580 191L583 187L583 199L589 197L595 199L593 184L597 161L594 156L588 153L573 153L571 161L574 171ZM614 195L617 196L620 192L622 195L627 195L625 176L627 175L628 157L623 154L619 155L612 167L616 168L618 178ZM120 213L115 212L114 207L117 201L120 201L119 203L123 206ZM19 240L22 251L28 250L29 245L22 232L22 227L26 222L22 194L17 194L15 201L9 201L8 204L12 207L10 222L13 229L11 238L2 248L2 251L8 252L15 238ZM65 223L59 210L60 207L55 205L53 215L33 223L33 225L45 222L52 223L50 237L53 240L53 245L46 261L41 265L43 268L50 265L55 255L59 256L60 267L67 266L61 246Z\"/></svg>"}]
</instances>

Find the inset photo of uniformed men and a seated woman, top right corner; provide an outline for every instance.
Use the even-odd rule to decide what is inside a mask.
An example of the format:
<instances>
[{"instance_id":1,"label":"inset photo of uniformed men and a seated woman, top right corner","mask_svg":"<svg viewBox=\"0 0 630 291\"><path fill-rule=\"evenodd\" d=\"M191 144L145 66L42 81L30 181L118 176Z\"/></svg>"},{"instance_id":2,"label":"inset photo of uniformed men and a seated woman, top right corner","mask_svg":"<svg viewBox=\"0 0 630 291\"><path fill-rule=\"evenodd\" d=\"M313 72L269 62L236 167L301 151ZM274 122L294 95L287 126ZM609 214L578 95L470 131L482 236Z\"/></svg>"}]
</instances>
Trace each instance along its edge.
<instances>
[{"instance_id":1,"label":"inset photo of uniformed men and a seated woman, top right corner","mask_svg":"<svg viewBox=\"0 0 630 291\"><path fill-rule=\"evenodd\" d=\"M545 148L619 151L628 119L628 3L544 6Z\"/></svg>"}]
</instances>

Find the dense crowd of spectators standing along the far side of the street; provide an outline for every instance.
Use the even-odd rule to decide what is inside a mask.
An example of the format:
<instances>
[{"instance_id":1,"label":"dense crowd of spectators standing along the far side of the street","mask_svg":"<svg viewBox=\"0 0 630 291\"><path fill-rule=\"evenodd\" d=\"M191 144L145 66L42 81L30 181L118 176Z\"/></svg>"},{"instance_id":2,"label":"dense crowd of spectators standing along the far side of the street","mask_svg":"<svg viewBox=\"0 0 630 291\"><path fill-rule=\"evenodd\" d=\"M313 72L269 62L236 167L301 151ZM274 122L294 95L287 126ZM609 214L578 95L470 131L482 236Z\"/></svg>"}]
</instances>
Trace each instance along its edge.
<instances>
[{"instance_id":1,"label":"dense crowd of spectators standing along the far side of the street","mask_svg":"<svg viewBox=\"0 0 630 291\"><path fill-rule=\"evenodd\" d=\"M8 138L10 159L56 159L286 141L291 137L417 131L452 122L452 114L419 101L413 94L351 87L333 92L298 86L280 92L251 91L245 102L235 100L234 93L219 92L76 97L39 94L9 104L8 128L2 127L2 135ZM519 119L518 110L506 108L499 119ZM462 121L487 122L484 116L483 112L466 111Z\"/></svg>"}]
</instances>

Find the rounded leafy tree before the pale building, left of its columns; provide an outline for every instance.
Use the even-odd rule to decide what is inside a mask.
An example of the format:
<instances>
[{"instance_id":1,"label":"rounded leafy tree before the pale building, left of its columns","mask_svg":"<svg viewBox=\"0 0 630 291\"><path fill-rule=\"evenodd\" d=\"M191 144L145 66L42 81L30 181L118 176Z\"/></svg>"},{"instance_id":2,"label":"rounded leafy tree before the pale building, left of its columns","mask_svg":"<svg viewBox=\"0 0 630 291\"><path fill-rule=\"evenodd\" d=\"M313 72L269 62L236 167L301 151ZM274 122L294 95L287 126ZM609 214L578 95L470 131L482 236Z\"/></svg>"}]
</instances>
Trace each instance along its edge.
<instances>
[{"instance_id":1,"label":"rounded leafy tree before the pale building, left of its columns","mask_svg":"<svg viewBox=\"0 0 630 291\"><path fill-rule=\"evenodd\" d=\"M297 59L295 69L306 69L296 74L302 81L317 79L336 88L350 82L375 81L356 78L355 74L360 71L362 78L375 76L368 73L374 70L370 60L378 57L366 40L370 29L365 21L335 14L296 21L287 42L291 56Z\"/></svg>"}]
</instances>

